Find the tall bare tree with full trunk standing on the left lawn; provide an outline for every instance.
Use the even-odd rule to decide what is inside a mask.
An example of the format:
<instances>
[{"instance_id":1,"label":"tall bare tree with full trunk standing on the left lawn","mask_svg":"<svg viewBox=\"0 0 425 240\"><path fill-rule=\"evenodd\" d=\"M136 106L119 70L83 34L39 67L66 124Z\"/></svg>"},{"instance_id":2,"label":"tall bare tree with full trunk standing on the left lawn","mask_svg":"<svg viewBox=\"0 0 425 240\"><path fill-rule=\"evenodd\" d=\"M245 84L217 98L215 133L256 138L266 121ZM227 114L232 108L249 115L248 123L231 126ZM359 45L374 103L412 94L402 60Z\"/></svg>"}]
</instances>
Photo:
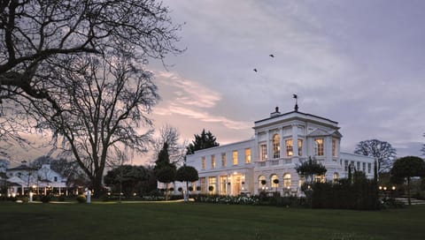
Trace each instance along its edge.
<instances>
[{"instance_id":1,"label":"tall bare tree with full trunk standing on the left lawn","mask_svg":"<svg viewBox=\"0 0 425 240\"><path fill-rule=\"evenodd\" d=\"M150 72L125 56L73 57L70 64L75 71L55 74L64 85L57 99L61 111L49 111L44 101L31 107L37 127L54 132L53 145L73 155L99 194L108 162L147 150L152 130L146 115L158 101L157 86Z\"/></svg>"}]
</instances>

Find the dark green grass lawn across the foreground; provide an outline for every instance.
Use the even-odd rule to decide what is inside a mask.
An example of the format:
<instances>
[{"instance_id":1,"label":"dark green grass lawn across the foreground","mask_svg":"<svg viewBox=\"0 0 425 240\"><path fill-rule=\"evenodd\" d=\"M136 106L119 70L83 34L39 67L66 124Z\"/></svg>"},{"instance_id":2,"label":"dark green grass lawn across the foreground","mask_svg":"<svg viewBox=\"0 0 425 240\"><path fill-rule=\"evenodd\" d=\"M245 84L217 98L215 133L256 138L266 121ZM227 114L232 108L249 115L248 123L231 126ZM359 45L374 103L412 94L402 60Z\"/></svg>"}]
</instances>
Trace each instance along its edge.
<instances>
[{"instance_id":1,"label":"dark green grass lawn across the foreground","mask_svg":"<svg viewBox=\"0 0 425 240\"><path fill-rule=\"evenodd\" d=\"M0 202L0 239L425 239L425 206L360 212L197 203Z\"/></svg>"}]
</instances>

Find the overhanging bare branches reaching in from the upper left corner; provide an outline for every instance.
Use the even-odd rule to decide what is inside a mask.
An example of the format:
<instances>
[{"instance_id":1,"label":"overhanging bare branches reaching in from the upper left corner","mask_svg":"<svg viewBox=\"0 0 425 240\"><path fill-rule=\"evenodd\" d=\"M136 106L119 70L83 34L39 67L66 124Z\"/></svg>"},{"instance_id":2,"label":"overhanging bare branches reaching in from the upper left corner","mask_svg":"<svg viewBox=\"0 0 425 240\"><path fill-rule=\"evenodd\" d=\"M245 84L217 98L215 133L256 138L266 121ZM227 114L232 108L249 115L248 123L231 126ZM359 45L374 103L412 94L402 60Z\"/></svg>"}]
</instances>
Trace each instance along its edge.
<instances>
[{"instance_id":1,"label":"overhanging bare branches reaching in from the upper left corner","mask_svg":"<svg viewBox=\"0 0 425 240\"><path fill-rule=\"evenodd\" d=\"M120 52L145 62L180 52L180 26L151 0L9 0L0 10L0 101L21 94L58 108L41 70L66 68L64 56Z\"/></svg>"}]
</instances>

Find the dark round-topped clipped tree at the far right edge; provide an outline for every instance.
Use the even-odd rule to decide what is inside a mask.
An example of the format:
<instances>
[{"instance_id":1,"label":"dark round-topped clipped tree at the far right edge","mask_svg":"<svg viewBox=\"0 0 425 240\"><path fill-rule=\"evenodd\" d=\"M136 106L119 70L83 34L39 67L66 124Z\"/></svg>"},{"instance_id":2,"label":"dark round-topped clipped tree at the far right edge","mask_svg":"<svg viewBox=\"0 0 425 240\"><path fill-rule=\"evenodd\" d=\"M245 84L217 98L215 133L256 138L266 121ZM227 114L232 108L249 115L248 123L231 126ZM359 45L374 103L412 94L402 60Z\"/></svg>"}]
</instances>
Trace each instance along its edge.
<instances>
[{"instance_id":1,"label":"dark round-topped clipped tree at the far right edge","mask_svg":"<svg viewBox=\"0 0 425 240\"><path fill-rule=\"evenodd\" d=\"M400 178L407 180L407 198L411 205L410 180L413 176L425 176L425 161L416 156L399 158L394 162L390 175L393 182L398 182Z\"/></svg>"}]
</instances>

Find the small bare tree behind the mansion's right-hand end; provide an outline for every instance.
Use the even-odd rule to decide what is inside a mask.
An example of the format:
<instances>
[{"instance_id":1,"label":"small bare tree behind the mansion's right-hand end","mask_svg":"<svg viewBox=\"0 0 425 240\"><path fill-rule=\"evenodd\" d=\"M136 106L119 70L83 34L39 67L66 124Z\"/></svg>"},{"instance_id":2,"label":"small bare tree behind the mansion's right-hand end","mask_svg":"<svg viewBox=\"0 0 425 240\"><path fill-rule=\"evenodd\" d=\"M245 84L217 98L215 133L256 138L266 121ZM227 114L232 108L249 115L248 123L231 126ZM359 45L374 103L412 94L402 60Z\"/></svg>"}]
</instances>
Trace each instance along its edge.
<instances>
[{"instance_id":1,"label":"small bare tree behind the mansion's right-hand end","mask_svg":"<svg viewBox=\"0 0 425 240\"><path fill-rule=\"evenodd\" d=\"M378 172L388 172L392 168L392 163L396 159L397 151L390 143L378 139L360 141L354 154L361 154L375 157L378 161Z\"/></svg>"}]
</instances>

